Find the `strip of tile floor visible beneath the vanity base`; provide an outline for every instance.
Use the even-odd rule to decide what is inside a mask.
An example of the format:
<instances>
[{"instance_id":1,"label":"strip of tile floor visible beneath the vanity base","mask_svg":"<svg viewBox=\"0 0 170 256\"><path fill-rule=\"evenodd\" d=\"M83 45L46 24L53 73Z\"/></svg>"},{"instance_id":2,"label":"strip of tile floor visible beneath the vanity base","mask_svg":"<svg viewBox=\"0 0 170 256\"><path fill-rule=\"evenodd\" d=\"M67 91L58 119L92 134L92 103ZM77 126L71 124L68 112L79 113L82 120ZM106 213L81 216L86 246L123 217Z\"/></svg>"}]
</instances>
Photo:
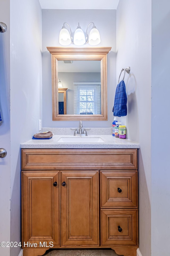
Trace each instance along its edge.
<instances>
[{"instance_id":1,"label":"strip of tile floor visible beneath the vanity base","mask_svg":"<svg viewBox=\"0 0 170 256\"><path fill-rule=\"evenodd\" d=\"M118 256L112 249L50 249L43 256Z\"/></svg>"}]
</instances>

